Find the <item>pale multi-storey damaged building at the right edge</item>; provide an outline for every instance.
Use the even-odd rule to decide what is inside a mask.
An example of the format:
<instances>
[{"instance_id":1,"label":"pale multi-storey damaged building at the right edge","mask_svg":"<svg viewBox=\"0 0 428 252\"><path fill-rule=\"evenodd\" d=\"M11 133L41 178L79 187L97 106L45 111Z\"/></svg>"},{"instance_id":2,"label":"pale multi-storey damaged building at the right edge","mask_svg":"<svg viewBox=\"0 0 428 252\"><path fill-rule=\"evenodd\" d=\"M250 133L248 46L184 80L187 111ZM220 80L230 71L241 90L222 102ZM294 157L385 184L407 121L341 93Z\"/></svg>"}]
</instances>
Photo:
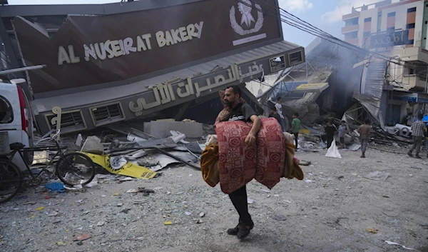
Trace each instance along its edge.
<instances>
[{"instance_id":1,"label":"pale multi-storey damaged building at the right edge","mask_svg":"<svg viewBox=\"0 0 428 252\"><path fill-rule=\"evenodd\" d=\"M409 126L427 113L427 14L425 1L387 0L342 17L345 41L391 59L367 57L355 65L361 73L355 98L384 129Z\"/></svg>"}]
</instances>

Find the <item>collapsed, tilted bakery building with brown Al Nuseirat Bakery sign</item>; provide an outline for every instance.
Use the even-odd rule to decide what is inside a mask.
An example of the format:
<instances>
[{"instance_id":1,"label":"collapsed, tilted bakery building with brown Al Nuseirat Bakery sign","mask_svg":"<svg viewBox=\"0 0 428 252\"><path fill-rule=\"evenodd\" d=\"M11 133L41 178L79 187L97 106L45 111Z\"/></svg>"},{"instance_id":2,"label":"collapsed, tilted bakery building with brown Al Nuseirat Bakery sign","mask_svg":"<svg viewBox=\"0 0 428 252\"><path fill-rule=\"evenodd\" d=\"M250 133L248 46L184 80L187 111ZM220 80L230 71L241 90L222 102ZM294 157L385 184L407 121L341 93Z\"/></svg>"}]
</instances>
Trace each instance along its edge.
<instances>
[{"instance_id":1,"label":"collapsed, tilted bakery building with brown Al Nuseirat Bakery sign","mask_svg":"<svg viewBox=\"0 0 428 252\"><path fill-rule=\"evenodd\" d=\"M26 80L20 85L41 133L137 119L212 123L223 108L220 89L305 61L301 46L283 41L277 6L277 0L6 5L3 68L46 65L9 76Z\"/></svg>"}]
</instances>

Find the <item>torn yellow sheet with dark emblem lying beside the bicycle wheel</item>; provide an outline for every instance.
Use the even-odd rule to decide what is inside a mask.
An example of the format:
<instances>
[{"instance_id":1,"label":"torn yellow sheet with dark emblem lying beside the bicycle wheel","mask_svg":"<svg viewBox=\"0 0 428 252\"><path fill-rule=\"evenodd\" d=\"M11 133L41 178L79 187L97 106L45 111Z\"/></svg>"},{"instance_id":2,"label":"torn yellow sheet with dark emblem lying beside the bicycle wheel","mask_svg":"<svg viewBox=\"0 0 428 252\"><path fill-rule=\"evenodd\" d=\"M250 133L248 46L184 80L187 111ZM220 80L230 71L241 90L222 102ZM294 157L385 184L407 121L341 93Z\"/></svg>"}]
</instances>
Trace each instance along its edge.
<instances>
[{"instance_id":1,"label":"torn yellow sheet with dark emblem lying beside the bicycle wheel","mask_svg":"<svg viewBox=\"0 0 428 252\"><path fill-rule=\"evenodd\" d=\"M91 158L93 163L103 166L103 168L105 168L108 172L113 174L130 176L133 178L144 178L144 179L150 179L156 175L156 171L152 171L149 168L138 166L128 161L126 161L126 163L120 168L113 168L110 163L110 160L111 160L110 155L97 155L97 154L87 153L87 152L81 152L81 153Z\"/></svg>"}]
</instances>

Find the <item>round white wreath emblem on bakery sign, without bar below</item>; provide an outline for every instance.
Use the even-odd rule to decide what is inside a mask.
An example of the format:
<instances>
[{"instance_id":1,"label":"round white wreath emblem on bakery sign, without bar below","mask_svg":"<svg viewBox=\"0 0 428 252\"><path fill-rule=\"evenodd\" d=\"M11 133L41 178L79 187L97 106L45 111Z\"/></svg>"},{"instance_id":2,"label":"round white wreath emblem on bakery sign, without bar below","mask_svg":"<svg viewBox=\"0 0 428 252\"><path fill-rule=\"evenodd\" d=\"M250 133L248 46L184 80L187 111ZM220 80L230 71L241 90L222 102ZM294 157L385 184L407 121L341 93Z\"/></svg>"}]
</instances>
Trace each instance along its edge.
<instances>
[{"instance_id":1,"label":"round white wreath emblem on bakery sign, without bar below","mask_svg":"<svg viewBox=\"0 0 428 252\"><path fill-rule=\"evenodd\" d=\"M263 12L262 7L260 7L259 4L255 4L255 9L257 10L257 21L255 21L253 14L251 14L251 11L253 11L253 4L250 0L240 0L238 3L238 10L241 14L241 20L240 24L238 24L238 21L236 21L235 16L235 6L232 6L230 8L230 25L233 28L233 31L235 31L237 34L244 36L248 34L255 34L256 32L260 31L263 26ZM254 24L254 27L251 28L251 26Z\"/></svg>"}]
</instances>

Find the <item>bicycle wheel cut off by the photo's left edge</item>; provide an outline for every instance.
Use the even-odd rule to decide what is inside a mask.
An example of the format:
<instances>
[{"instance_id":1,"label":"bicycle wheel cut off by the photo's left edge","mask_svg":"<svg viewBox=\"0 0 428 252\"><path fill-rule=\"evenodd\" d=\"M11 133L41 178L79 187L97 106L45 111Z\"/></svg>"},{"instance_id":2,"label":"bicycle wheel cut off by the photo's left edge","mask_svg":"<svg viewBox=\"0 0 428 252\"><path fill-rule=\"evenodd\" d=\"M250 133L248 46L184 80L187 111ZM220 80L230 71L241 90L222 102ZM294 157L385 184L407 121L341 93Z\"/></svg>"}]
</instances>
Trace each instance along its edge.
<instances>
[{"instance_id":1,"label":"bicycle wheel cut off by the photo's left edge","mask_svg":"<svg viewBox=\"0 0 428 252\"><path fill-rule=\"evenodd\" d=\"M0 203L9 201L19 193L22 173L16 164L0 159Z\"/></svg>"}]
</instances>

